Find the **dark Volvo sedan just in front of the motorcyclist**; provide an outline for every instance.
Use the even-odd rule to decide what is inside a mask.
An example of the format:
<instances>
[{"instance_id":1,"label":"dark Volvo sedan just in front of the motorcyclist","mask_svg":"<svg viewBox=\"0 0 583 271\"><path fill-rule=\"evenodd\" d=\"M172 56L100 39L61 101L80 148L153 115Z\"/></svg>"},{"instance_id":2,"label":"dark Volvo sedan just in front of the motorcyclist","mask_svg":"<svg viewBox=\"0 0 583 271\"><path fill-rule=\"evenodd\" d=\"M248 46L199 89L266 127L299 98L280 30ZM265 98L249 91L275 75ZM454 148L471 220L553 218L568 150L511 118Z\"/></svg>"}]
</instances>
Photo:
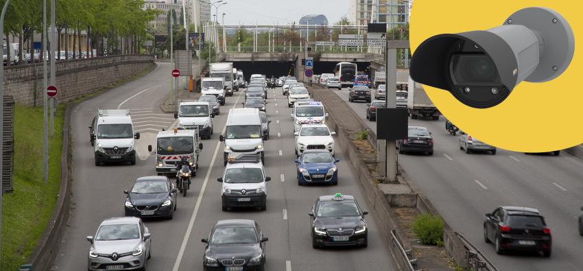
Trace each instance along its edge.
<instances>
[{"instance_id":1,"label":"dark Volvo sedan just in front of the motorcyclist","mask_svg":"<svg viewBox=\"0 0 583 271\"><path fill-rule=\"evenodd\" d=\"M132 189L123 191L128 197L124 206L126 216L166 217L176 211L176 188L166 176L146 176L134 182Z\"/></svg>"}]
</instances>

